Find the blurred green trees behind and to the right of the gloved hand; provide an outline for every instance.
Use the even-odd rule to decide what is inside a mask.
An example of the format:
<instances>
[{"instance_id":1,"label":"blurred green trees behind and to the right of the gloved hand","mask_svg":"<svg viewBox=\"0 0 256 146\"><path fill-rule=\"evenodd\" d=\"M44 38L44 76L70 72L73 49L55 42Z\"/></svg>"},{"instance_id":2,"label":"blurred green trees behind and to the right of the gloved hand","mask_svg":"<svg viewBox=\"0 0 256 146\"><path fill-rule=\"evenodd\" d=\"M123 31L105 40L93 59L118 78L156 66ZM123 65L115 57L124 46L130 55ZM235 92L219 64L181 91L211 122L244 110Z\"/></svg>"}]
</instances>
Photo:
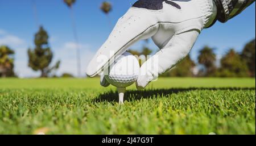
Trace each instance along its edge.
<instances>
[{"instance_id":1,"label":"blurred green trees behind and to the right of the gloved hand","mask_svg":"<svg viewBox=\"0 0 256 146\"><path fill-rule=\"evenodd\" d=\"M143 47L141 51L129 50L137 56L151 55L152 50ZM139 57L142 64L143 57ZM218 61L218 62L217 62ZM229 49L217 60L214 49L208 46L199 51L197 63L188 55L162 77L255 77L255 39L246 43L242 52Z\"/></svg>"}]
</instances>

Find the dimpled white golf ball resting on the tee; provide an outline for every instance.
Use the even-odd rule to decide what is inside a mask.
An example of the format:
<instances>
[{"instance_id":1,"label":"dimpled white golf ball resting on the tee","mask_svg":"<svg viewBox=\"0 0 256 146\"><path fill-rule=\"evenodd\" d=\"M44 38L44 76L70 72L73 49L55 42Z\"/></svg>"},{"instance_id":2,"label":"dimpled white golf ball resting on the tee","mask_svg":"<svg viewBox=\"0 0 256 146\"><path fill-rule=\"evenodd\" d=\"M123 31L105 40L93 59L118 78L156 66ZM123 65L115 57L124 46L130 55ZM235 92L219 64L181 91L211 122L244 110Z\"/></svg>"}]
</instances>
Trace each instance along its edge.
<instances>
[{"instance_id":1,"label":"dimpled white golf ball resting on the tee","mask_svg":"<svg viewBox=\"0 0 256 146\"><path fill-rule=\"evenodd\" d=\"M125 52L108 69L104 70L104 76L115 87L127 87L137 80L139 68L137 58Z\"/></svg>"}]
</instances>

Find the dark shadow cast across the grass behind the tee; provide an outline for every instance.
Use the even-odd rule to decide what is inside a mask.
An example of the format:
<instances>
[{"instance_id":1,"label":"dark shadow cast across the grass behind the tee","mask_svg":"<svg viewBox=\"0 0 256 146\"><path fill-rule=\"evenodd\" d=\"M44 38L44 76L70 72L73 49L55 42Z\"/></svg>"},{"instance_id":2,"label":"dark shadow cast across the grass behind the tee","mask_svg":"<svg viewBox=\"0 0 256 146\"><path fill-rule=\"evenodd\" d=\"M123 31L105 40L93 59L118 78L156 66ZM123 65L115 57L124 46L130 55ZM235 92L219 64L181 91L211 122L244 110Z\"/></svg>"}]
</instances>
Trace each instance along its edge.
<instances>
[{"instance_id":1,"label":"dark shadow cast across the grass behind the tee","mask_svg":"<svg viewBox=\"0 0 256 146\"><path fill-rule=\"evenodd\" d=\"M193 90L255 90L255 87L190 87L190 88L171 88L171 89L149 89L149 90L127 90L125 92L125 101L140 100L142 98L154 98L158 95L166 96L180 92L187 92ZM118 102L117 91L108 91L104 94L98 95L94 102Z\"/></svg>"}]
</instances>

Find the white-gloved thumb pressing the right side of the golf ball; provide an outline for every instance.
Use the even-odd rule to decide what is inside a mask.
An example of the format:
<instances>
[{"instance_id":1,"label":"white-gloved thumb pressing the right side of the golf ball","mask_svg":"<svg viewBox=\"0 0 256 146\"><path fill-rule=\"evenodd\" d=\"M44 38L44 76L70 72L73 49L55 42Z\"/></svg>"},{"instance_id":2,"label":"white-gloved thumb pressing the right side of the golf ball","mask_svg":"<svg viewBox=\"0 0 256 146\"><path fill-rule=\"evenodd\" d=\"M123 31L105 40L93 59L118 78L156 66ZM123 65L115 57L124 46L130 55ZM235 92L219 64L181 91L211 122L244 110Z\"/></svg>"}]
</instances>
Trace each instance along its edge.
<instances>
[{"instance_id":1,"label":"white-gloved thumb pressing the right side of the golf ball","mask_svg":"<svg viewBox=\"0 0 256 146\"><path fill-rule=\"evenodd\" d=\"M137 89L143 89L152 80L158 78L159 74L166 72L184 59L193 47L198 35L198 30L190 30L174 35L166 47L141 66L141 74L139 74L136 82Z\"/></svg>"}]
</instances>

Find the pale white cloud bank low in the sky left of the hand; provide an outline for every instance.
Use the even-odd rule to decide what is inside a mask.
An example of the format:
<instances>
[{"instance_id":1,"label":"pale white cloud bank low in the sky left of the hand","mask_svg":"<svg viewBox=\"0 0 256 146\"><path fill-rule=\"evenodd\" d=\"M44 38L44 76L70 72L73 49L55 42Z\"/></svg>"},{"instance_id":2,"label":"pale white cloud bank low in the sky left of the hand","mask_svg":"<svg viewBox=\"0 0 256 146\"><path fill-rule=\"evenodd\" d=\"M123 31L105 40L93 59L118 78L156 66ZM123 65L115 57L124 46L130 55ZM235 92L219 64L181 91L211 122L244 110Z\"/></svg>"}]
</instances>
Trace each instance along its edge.
<instances>
[{"instance_id":1,"label":"pale white cloud bank low in the sky left of the hand","mask_svg":"<svg viewBox=\"0 0 256 146\"><path fill-rule=\"evenodd\" d=\"M49 41L54 41L54 39ZM25 40L13 34L9 34L7 31L0 30L0 45L8 45L11 49L14 49L14 71L19 77L40 76L40 72L34 72L28 67L28 43ZM95 53L90 50L90 45L68 41L62 43L60 46L55 46L54 44L51 46L54 56L50 66L55 64L57 60L61 61L60 68L56 72L58 76L63 73L72 73L77 76L77 47L80 49L81 76L85 76L86 66Z\"/></svg>"}]
</instances>

